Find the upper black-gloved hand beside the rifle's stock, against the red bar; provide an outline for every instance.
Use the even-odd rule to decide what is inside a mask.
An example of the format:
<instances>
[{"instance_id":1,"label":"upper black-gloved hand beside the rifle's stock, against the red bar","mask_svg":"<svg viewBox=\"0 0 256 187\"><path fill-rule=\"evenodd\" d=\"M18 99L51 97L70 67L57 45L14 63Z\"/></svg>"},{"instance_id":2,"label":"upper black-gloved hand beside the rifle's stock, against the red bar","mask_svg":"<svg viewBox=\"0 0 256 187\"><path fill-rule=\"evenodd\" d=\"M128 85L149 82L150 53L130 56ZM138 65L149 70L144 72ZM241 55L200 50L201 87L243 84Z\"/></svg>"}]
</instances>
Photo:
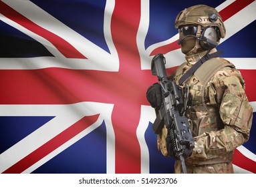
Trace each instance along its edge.
<instances>
[{"instance_id":1,"label":"upper black-gloved hand beside the rifle's stock, against the red bar","mask_svg":"<svg viewBox=\"0 0 256 187\"><path fill-rule=\"evenodd\" d=\"M157 108L162 104L162 92L161 92L161 85L159 83L154 83L148 87L146 91L146 98L150 103L152 108Z\"/></svg>"}]
</instances>

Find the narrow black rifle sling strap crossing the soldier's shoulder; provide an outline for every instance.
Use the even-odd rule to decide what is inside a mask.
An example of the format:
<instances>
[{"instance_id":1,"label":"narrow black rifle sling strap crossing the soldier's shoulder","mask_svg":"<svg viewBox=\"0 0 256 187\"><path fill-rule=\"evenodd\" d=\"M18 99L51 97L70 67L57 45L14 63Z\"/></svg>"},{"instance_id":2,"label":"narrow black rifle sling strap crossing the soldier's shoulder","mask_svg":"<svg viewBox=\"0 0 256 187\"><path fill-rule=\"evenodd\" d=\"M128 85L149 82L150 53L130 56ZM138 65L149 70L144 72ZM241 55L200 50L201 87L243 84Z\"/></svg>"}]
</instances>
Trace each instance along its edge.
<instances>
[{"instance_id":1,"label":"narrow black rifle sling strap crossing the soldier's shoulder","mask_svg":"<svg viewBox=\"0 0 256 187\"><path fill-rule=\"evenodd\" d=\"M222 54L222 51L217 51L215 53L207 53L206 55L204 55L201 59L199 59L199 61L197 61L197 63L195 63L192 67L190 67L190 69L188 69L188 71L186 71L186 73L184 73L184 75L182 75L182 77L180 77L178 84L182 85L182 83L188 79L188 77L190 77L193 73L195 73L195 71L197 69L199 69L199 67L205 63L205 61L212 59L213 57L219 57L219 55Z\"/></svg>"}]
</instances>

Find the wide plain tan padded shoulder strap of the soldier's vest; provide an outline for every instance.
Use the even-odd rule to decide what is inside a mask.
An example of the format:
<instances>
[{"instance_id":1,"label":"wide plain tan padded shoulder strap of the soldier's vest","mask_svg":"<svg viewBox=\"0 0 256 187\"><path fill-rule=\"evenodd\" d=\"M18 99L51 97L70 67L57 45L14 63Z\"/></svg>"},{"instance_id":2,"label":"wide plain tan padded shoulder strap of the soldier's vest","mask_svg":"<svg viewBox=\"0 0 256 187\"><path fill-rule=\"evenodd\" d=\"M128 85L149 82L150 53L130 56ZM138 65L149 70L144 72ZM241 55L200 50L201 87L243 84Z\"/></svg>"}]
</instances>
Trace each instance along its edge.
<instances>
[{"instance_id":1,"label":"wide plain tan padded shoulder strap of the soldier's vest","mask_svg":"<svg viewBox=\"0 0 256 187\"><path fill-rule=\"evenodd\" d=\"M229 61L220 61L216 59L210 59L203 63L197 71L195 71L194 75L199 79L199 81L206 85L211 77L217 73L220 69L223 69L223 67L235 67L232 63L229 63Z\"/></svg>"}]
</instances>

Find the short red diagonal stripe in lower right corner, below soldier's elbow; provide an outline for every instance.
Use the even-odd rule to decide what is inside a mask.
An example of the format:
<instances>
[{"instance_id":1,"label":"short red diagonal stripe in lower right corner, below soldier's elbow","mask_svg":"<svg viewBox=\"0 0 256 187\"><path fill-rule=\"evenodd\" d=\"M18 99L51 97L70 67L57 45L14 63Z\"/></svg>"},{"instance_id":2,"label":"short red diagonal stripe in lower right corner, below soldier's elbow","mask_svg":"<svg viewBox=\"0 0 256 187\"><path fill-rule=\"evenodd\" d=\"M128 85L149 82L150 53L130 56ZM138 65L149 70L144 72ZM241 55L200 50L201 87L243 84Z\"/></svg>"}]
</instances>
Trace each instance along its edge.
<instances>
[{"instance_id":1,"label":"short red diagonal stripe in lower right corner, below soldier's elbow","mask_svg":"<svg viewBox=\"0 0 256 187\"><path fill-rule=\"evenodd\" d=\"M256 162L241 154L237 149L234 152L233 164L250 172L256 173Z\"/></svg>"}]
</instances>

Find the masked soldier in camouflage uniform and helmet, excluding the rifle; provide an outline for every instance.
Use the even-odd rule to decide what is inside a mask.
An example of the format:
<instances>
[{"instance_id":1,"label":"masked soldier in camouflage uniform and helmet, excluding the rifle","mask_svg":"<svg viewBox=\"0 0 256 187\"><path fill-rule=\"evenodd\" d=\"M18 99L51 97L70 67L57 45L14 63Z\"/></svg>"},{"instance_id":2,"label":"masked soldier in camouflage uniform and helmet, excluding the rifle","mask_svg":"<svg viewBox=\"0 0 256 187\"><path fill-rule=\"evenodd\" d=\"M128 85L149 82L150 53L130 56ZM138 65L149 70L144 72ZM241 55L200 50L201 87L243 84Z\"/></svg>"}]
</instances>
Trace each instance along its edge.
<instances>
[{"instance_id":1,"label":"masked soldier in camouflage uniform and helmet, excluding the rifle","mask_svg":"<svg viewBox=\"0 0 256 187\"><path fill-rule=\"evenodd\" d=\"M216 9L195 5L178 13L175 27L186 62L172 79L183 89L184 116L195 140L193 153L185 160L187 172L233 173L233 153L249 139L253 110L241 73L231 62L218 57L216 47L225 37L225 25ZM146 96L153 108L162 102L159 93L158 83L148 87ZM158 149L168 156L164 128L158 134ZM182 172L179 160L174 172Z\"/></svg>"}]
</instances>

